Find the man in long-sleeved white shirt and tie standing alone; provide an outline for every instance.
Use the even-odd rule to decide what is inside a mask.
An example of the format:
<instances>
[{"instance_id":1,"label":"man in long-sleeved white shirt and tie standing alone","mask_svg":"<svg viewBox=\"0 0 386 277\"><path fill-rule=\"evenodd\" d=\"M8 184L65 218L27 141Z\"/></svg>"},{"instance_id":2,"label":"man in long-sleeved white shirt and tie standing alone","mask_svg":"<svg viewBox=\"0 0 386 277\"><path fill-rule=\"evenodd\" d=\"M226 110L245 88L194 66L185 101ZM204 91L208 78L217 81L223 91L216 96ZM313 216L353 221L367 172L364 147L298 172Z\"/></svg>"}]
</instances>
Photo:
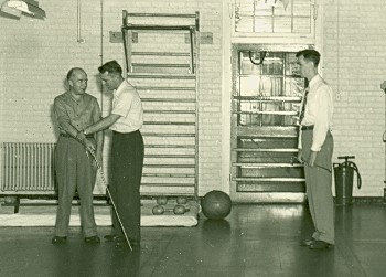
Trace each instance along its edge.
<instances>
[{"instance_id":1,"label":"man in long-sleeved white shirt and tie standing alone","mask_svg":"<svg viewBox=\"0 0 386 277\"><path fill-rule=\"evenodd\" d=\"M334 203L332 185L331 135L333 92L319 75L320 54L315 50L297 53L300 75L308 81L300 114L298 159L304 161L307 196L313 225L311 238L302 242L310 249L328 249L334 245Z\"/></svg>"}]
</instances>

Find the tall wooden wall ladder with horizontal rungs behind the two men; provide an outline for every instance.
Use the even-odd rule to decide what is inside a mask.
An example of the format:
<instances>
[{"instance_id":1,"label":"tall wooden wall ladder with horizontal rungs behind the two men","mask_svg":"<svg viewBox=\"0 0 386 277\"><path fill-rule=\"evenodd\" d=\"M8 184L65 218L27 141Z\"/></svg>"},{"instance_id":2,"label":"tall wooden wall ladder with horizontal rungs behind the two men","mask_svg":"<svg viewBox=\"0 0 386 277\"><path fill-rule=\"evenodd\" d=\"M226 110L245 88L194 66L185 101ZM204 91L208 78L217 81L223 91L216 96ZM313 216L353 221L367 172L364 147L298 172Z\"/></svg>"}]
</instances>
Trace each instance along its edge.
<instances>
[{"instance_id":1,"label":"tall wooden wall ladder with horizontal rungs behind the two men","mask_svg":"<svg viewBox=\"0 0 386 277\"><path fill-rule=\"evenodd\" d=\"M122 13L127 77L144 111L142 195L197 196L199 15Z\"/></svg>"}]
</instances>

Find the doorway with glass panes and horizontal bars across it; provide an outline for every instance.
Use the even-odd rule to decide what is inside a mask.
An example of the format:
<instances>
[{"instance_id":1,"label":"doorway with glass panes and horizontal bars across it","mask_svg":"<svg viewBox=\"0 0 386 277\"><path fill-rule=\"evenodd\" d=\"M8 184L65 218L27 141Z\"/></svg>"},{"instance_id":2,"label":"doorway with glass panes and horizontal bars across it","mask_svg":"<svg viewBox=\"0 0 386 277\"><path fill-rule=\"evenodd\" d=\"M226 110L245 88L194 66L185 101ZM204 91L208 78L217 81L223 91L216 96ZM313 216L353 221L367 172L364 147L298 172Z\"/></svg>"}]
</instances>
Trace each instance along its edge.
<instances>
[{"instance_id":1,"label":"doorway with glass panes and horizontal bars across it","mask_svg":"<svg viewBox=\"0 0 386 277\"><path fill-rule=\"evenodd\" d=\"M230 187L237 202L303 201L298 119L305 79L296 53L309 45L234 44Z\"/></svg>"}]
</instances>

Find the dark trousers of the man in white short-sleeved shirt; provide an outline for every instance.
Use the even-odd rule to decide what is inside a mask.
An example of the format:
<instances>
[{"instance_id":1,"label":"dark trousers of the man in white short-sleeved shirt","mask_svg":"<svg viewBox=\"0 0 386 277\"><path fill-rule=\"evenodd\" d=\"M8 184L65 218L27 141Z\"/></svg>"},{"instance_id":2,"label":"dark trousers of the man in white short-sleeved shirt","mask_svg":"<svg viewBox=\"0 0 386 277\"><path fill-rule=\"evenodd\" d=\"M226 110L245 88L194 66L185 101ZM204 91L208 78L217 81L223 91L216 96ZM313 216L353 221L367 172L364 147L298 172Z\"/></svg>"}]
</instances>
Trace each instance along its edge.
<instances>
[{"instance_id":1,"label":"dark trousers of the man in white short-sleeved shirt","mask_svg":"<svg viewBox=\"0 0 386 277\"><path fill-rule=\"evenodd\" d=\"M112 132L111 198L129 238L140 241L141 201L140 184L143 168L143 139L139 130ZM118 219L112 213L112 233L124 235Z\"/></svg>"}]
</instances>

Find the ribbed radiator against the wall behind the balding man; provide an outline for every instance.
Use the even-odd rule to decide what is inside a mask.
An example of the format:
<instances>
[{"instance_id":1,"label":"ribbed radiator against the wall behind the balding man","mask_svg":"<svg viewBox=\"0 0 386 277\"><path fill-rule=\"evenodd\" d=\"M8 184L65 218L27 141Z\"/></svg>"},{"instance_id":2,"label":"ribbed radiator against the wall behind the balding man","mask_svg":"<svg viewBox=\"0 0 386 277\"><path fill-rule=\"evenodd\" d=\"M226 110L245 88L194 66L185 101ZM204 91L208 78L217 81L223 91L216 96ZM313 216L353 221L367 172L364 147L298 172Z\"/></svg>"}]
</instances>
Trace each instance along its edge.
<instances>
[{"instance_id":1,"label":"ribbed radiator against the wall behind the balding man","mask_svg":"<svg viewBox=\"0 0 386 277\"><path fill-rule=\"evenodd\" d=\"M1 145L1 192L52 194L55 143Z\"/></svg>"}]
</instances>

